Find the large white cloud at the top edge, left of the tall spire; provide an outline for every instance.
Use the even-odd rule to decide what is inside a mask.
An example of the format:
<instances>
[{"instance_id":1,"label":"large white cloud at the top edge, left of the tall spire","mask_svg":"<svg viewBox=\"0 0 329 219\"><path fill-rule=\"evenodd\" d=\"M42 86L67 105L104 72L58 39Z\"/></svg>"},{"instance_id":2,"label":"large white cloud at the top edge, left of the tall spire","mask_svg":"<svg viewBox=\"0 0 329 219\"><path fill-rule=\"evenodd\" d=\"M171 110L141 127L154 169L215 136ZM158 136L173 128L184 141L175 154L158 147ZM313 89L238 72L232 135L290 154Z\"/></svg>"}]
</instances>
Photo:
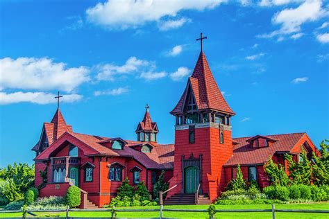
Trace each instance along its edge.
<instances>
[{"instance_id":1,"label":"large white cloud at the top edge, left of the tall spire","mask_svg":"<svg viewBox=\"0 0 329 219\"><path fill-rule=\"evenodd\" d=\"M181 10L205 10L219 6L226 0L122 0L97 3L86 10L87 20L109 29L126 29L142 26L146 22L160 21L162 18L175 17Z\"/></svg>"}]
</instances>

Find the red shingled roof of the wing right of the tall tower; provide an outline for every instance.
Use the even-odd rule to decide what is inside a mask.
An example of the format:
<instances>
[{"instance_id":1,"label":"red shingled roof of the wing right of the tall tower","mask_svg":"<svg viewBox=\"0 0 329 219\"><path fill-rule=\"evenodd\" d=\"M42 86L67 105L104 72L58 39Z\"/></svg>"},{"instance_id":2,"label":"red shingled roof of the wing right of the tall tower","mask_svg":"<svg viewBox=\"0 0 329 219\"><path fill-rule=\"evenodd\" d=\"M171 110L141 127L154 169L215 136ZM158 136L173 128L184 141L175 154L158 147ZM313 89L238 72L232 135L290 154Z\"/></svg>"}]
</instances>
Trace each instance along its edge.
<instances>
[{"instance_id":1,"label":"red shingled roof of the wing right of the tall tower","mask_svg":"<svg viewBox=\"0 0 329 219\"><path fill-rule=\"evenodd\" d=\"M248 139L251 139L251 137L235 138L233 141L236 141L237 144L233 145L233 156L224 166L263 164L269 159L269 156L274 155L276 152L292 150L304 134L305 133L293 133L264 136L269 139L276 139L271 146L266 148L251 148L250 144L246 142Z\"/></svg>"}]
</instances>

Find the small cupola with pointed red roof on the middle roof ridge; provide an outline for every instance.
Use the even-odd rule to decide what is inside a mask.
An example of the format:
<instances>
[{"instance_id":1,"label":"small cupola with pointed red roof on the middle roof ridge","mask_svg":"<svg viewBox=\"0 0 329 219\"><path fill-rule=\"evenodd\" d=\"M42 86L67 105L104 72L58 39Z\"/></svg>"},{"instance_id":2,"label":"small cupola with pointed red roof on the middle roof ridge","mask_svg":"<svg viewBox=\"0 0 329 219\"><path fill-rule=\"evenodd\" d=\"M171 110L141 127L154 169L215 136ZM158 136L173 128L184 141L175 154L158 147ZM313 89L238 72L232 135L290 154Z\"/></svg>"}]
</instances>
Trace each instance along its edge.
<instances>
[{"instance_id":1,"label":"small cupola with pointed red roof on the middle roof ridge","mask_svg":"<svg viewBox=\"0 0 329 219\"><path fill-rule=\"evenodd\" d=\"M137 141L156 142L157 134L159 132L158 125L152 122L149 112L149 105L146 104L146 112L144 119L137 125L135 133L137 134Z\"/></svg>"}]
</instances>

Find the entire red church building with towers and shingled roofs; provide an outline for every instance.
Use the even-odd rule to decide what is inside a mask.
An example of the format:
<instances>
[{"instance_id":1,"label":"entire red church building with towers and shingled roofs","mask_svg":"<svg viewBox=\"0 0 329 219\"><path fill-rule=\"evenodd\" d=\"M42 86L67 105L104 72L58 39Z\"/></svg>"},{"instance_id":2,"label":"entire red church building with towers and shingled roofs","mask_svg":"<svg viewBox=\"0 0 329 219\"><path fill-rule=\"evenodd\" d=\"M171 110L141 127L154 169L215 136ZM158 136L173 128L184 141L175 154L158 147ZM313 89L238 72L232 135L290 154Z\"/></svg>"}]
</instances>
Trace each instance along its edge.
<instances>
[{"instance_id":1,"label":"entire red church building with towers and shingled roofs","mask_svg":"<svg viewBox=\"0 0 329 219\"><path fill-rule=\"evenodd\" d=\"M285 153L298 160L303 146L309 156L313 151L319 154L306 133L233 139L235 112L223 98L202 50L170 113L176 118L175 143L164 145L158 143L158 125L147 105L135 141L76 133L58 106L32 149L40 195L65 195L69 186L76 185L82 191L81 207L102 207L115 197L124 178L132 185L145 182L152 191L165 170L165 180L174 188L167 194L167 204L210 203L235 177L237 165L248 182L255 180L262 188L271 183L263 170L269 157L287 169Z\"/></svg>"}]
</instances>

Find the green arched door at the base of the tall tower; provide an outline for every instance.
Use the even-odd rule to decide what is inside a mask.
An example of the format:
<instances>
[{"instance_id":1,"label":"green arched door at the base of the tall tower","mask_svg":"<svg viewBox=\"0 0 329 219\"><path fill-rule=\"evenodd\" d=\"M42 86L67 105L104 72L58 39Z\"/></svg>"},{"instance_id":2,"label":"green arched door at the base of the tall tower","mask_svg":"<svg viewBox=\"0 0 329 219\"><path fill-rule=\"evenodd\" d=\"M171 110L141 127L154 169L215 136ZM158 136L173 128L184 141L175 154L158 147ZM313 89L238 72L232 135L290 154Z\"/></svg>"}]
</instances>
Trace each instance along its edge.
<instances>
[{"instance_id":1,"label":"green arched door at the base of the tall tower","mask_svg":"<svg viewBox=\"0 0 329 219\"><path fill-rule=\"evenodd\" d=\"M199 186L199 168L189 166L184 171L185 193L194 193Z\"/></svg>"}]
</instances>

